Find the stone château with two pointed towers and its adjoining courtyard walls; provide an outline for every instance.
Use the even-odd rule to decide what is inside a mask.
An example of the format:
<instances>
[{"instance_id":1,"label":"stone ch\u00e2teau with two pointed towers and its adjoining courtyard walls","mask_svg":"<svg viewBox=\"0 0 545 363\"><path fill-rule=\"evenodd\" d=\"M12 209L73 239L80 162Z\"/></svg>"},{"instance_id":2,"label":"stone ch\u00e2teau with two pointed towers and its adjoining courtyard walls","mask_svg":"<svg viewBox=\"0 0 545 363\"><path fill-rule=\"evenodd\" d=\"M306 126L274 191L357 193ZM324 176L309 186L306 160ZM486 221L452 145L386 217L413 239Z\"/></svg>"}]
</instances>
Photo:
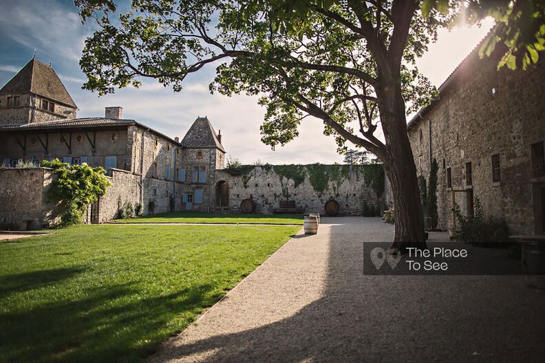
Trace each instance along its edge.
<instances>
[{"instance_id":1,"label":"stone ch\u00e2teau with two pointed towers and its adjoining courtyard walls","mask_svg":"<svg viewBox=\"0 0 545 363\"><path fill-rule=\"evenodd\" d=\"M206 117L197 118L180 141L123 118L121 107L107 107L104 117L94 118L76 118L76 111L54 69L36 59L0 89L0 229L38 228L54 215L48 195L54 175L47 168L15 168L21 160L38 165L58 158L103 166L111 186L89 206L88 223L114 218L118 204L129 202L141 204L144 214L233 212L244 199L255 201L255 212L261 213L273 212L286 199L306 212L323 212L329 199L337 199L341 212L350 214L384 204L382 170L372 180L364 177L369 173L363 166L343 168L343 173L341 166L318 168L312 175L316 167L301 167L297 182L275 172L281 168L256 166L233 175L224 169L222 135ZM326 169L339 173L325 184L328 175L319 175L317 188L313 175Z\"/></svg>"}]
</instances>

